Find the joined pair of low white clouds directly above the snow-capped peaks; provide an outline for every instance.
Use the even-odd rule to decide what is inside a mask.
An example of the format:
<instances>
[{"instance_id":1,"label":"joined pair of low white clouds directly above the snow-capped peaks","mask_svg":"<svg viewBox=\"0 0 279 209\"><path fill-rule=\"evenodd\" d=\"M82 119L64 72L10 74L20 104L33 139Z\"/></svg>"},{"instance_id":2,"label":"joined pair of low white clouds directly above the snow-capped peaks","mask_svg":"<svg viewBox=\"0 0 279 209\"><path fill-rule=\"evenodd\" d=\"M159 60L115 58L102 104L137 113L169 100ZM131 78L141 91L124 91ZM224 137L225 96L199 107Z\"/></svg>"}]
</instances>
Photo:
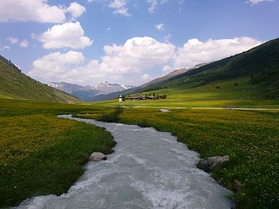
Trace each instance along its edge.
<instances>
[{"instance_id":1,"label":"joined pair of low white clouds directly above the snow-capped peaks","mask_svg":"<svg viewBox=\"0 0 279 209\"><path fill-rule=\"evenodd\" d=\"M33 70L29 75L44 81L77 84L92 84L103 79L141 84L149 78L146 75L142 77L142 70L151 70L156 65L167 63L174 55L175 46L150 37L135 37L124 45L106 45L104 51L105 56L101 61L92 60L89 63L83 63L81 52L47 54L33 62Z\"/></svg>"}]
</instances>

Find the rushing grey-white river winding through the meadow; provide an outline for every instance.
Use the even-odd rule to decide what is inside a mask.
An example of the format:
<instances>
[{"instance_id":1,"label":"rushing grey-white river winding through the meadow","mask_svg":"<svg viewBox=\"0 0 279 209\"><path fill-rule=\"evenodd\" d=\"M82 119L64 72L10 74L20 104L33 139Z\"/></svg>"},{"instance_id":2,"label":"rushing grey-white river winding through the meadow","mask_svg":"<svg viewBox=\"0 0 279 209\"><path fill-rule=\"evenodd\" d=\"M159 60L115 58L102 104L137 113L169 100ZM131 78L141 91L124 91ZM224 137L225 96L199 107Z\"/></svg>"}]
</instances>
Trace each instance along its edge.
<instances>
[{"instance_id":1,"label":"rushing grey-white river winding through the meadow","mask_svg":"<svg viewBox=\"0 0 279 209\"><path fill-rule=\"evenodd\" d=\"M60 116L71 118L71 116ZM195 167L199 155L167 132L71 118L105 127L117 142L103 162L61 196L37 196L18 208L230 208L231 194Z\"/></svg>"}]
</instances>

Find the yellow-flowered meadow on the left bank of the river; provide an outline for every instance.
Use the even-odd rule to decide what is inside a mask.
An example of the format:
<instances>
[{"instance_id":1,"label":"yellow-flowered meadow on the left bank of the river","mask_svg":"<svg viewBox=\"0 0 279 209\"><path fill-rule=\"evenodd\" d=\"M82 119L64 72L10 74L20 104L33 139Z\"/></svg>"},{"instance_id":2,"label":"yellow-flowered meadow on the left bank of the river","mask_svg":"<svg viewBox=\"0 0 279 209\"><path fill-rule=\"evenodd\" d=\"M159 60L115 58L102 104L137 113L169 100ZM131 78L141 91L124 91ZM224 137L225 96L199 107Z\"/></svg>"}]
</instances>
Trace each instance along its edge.
<instances>
[{"instance_id":1,"label":"yellow-flowered meadow on the left bank of the river","mask_svg":"<svg viewBox=\"0 0 279 209\"><path fill-rule=\"evenodd\" d=\"M112 152L109 132L56 118L100 108L4 99L0 107L0 208L35 195L62 194L83 173L90 153Z\"/></svg>"}]
</instances>

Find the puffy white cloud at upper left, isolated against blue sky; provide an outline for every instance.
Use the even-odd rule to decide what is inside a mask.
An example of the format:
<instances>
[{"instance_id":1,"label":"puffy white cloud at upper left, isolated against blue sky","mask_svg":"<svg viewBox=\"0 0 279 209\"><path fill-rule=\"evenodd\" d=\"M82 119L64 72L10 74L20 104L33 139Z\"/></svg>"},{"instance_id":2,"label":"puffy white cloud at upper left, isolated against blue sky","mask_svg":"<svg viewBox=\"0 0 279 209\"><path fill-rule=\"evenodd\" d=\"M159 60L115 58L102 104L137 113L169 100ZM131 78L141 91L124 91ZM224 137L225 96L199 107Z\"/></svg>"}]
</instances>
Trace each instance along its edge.
<instances>
[{"instance_id":1,"label":"puffy white cloud at upper left, isolated against blue sky","mask_svg":"<svg viewBox=\"0 0 279 209\"><path fill-rule=\"evenodd\" d=\"M88 47L93 43L93 40L84 36L84 30L80 22L56 24L38 36L38 40L43 42L43 48L45 49L58 49L63 47L78 49Z\"/></svg>"}]
</instances>

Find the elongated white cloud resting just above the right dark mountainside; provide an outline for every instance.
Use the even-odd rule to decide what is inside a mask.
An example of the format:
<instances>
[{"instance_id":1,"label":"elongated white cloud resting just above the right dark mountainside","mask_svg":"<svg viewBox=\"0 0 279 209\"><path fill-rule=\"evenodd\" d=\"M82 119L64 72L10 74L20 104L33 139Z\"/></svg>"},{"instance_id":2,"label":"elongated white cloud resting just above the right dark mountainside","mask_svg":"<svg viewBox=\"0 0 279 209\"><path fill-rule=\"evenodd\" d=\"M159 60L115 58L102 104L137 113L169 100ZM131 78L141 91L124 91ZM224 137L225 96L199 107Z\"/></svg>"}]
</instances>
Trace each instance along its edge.
<instances>
[{"instance_id":1,"label":"elongated white cloud resting just above the right dark mountainside","mask_svg":"<svg viewBox=\"0 0 279 209\"><path fill-rule=\"evenodd\" d=\"M189 68L198 63L223 59L260 44L262 44L261 41L248 37L220 40L209 39L205 42L193 38L178 49L174 58L173 69Z\"/></svg>"}]
</instances>

